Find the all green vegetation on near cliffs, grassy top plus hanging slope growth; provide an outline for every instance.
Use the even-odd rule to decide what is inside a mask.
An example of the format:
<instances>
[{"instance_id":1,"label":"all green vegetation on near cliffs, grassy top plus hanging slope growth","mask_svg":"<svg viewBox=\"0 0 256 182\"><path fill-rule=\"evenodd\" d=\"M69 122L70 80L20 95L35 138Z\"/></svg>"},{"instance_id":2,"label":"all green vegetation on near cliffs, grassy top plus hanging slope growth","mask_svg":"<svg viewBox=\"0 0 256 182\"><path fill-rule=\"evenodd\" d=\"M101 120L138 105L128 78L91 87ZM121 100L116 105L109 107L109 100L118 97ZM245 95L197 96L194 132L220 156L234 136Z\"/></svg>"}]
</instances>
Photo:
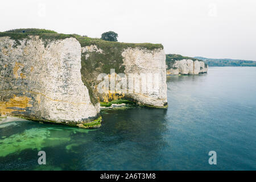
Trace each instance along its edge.
<instances>
[{"instance_id":1,"label":"all green vegetation on near cliffs, grassy top plus hanging slope growth","mask_svg":"<svg viewBox=\"0 0 256 182\"><path fill-rule=\"evenodd\" d=\"M110 42L98 38L88 38L87 36L80 36L77 34L57 34L55 31L26 28L16 29L6 32L0 32L0 37L9 36L15 40L14 47L20 45L20 40L30 39L31 35L38 35L44 41L44 46L54 40L65 38L76 38L81 47L97 46L101 52L86 51L81 55L81 76L84 85L88 88L90 101L93 105L98 103L98 98L95 93L97 90L97 76L100 73L110 73L110 69L115 69L115 73L124 73L125 66L123 65L122 52L127 48L145 49L145 51L153 51L154 49L163 49L162 44L151 43L121 43Z\"/></svg>"}]
</instances>

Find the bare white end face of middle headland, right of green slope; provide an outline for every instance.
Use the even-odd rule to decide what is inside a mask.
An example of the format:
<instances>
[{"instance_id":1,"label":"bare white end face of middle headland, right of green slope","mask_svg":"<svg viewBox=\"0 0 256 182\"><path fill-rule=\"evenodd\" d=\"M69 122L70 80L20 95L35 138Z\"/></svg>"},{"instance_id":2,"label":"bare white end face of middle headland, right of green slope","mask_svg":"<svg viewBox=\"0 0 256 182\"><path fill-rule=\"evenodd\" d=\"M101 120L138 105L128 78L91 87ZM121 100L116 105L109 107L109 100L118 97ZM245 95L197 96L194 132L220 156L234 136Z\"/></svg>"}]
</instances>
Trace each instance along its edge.
<instances>
[{"instance_id":1,"label":"bare white end face of middle headland, right of green slope","mask_svg":"<svg viewBox=\"0 0 256 182\"><path fill-rule=\"evenodd\" d=\"M133 75L134 93L139 104L167 107L166 55L163 49L127 48L122 52L125 74ZM128 86L129 86L128 84ZM135 92L137 90L137 92Z\"/></svg>"}]
</instances>

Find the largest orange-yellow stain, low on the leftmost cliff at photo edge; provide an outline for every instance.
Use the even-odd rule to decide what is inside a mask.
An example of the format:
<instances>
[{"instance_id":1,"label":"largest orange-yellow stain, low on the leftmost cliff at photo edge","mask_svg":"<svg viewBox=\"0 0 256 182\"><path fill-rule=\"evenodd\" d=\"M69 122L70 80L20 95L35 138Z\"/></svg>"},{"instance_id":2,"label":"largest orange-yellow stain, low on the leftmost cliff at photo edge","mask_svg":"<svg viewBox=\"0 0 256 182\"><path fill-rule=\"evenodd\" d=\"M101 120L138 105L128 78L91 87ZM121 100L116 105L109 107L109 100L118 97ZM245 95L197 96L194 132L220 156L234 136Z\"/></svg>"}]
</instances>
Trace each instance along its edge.
<instances>
[{"instance_id":1,"label":"largest orange-yellow stain, low on the leftmost cliff at photo edge","mask_svg":"<svg viewBox=\"0 0 256 182\"><path fill-rule=\"evenodd\" d=\"M27 107L32 107L29 103L31 98L26 96L13 96L9 101L0 101L0 114L8 115L12 114L14 111L26 111ZM19 108L21 110L15 109ZM22 110L23 109L23 110Z\"/></svg>"}]
</instances>

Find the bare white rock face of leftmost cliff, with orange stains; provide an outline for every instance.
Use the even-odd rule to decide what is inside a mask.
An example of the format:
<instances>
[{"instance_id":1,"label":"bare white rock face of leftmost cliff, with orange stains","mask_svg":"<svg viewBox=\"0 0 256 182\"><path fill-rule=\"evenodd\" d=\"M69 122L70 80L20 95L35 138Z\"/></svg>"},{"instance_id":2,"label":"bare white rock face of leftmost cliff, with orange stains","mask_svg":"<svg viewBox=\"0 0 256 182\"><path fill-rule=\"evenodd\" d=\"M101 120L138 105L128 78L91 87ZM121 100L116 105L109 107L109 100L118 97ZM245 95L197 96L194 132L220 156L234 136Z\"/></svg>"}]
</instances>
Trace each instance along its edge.
<instances>
[{"instance_id":1,"label":"bare white rock face of leftmost cliff, with orange stains","mask_svg":"<svg viewBox=\"0 0 256 182\"><path fill-rule=\"evenodd\" d=\"M53 122L83 122L96 117L81 80L81 46L75 38L46 47L39 36L0 38L0 114Z\"/></svg>"}]
</instances>

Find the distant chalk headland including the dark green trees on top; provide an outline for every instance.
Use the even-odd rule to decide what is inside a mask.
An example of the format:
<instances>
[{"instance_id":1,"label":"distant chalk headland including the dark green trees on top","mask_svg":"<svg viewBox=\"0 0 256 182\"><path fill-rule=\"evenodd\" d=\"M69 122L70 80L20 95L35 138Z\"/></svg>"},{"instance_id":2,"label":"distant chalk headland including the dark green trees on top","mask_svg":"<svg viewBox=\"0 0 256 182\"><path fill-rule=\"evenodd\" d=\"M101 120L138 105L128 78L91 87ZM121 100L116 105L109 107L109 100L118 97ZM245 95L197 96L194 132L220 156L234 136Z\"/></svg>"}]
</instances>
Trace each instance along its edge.
<instances>
[{"instance_id":1,"label":"distant chalk headland including the dark green trees on top","mask_svg":"<svg viewBox=\"0 0 256 182\"><path fill-rule=\"evenodd\" d=\"M208 65L202 60L181 55L166 55L167 75L198 75L206 73Z\"/></svg>"}]
</instances>

